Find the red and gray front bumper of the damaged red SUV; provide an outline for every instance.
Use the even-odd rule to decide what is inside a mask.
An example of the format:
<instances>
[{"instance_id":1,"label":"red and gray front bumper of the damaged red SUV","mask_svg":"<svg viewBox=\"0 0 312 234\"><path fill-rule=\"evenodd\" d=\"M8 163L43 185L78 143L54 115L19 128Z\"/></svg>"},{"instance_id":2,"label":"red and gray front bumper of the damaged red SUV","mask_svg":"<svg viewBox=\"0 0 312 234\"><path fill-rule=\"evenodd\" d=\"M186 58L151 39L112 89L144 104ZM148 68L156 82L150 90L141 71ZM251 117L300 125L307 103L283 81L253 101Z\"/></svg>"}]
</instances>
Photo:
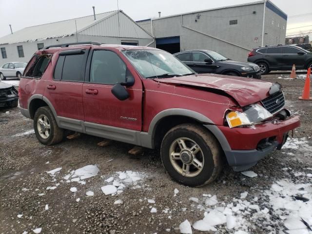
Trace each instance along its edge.
<instances>
[{"instance_id":1,"label":"red and gray front bumper of the damaged red SUV","mask_svg":"<svg viewBox=\"0 0 312 234\"><path fill-rule=\"evenodd\" d=\"M292 117L277 123L258 124L254 128L218 127L231 148L223 149L229 165L234 171L243 171L254 166L274 149L280 149L288 137L288 132L299 126L299 117ZM268 142L265 147L259 147L264 141Z\"/></svg>"}]
</instances>

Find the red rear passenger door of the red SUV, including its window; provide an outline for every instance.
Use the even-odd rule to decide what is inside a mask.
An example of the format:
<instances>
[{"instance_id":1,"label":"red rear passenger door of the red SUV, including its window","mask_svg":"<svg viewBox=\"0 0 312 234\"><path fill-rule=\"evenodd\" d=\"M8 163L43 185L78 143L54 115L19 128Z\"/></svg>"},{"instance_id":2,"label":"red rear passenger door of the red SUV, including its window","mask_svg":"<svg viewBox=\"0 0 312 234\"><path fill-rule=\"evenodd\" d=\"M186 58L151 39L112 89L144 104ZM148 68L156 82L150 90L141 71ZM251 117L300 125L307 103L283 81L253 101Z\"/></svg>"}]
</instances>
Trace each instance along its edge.
<instances>
[{"instance_id":1,"label":"red rear passenger door of the red SUV, including its window","mask_svg":"<svg viewBox=\"0 0 312 234\"><path fill-rule=\"evenodd\" d=\"M82 131L84 120L82 84L89 50L73 49L59 53L52 78L46 80L44 96L61 118L61 127Z\"/></svg>"}]
</instances>

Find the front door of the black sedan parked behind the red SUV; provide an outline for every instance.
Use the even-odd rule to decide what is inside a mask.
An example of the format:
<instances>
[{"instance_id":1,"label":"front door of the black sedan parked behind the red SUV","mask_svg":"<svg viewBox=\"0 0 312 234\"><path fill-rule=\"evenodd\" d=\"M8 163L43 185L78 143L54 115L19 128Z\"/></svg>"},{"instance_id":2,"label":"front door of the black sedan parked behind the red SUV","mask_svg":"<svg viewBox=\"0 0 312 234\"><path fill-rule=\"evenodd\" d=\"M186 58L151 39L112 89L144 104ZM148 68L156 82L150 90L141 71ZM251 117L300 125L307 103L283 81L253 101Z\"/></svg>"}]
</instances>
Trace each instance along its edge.
<instances>
[{"instance_id":1,"label":"front door of the black sedan parked behind the red SUV","mask_svg":"<svg viewBox=\"0 0 312 234\"><path fill-rule=\"evenodd\" d=\"M202 52L192 52L193 57L193 70L198 73L214 73L216 66L214 62L209 64L205 62L205 59L211 59L208 55Z\"/></svg>"}]
</instances>

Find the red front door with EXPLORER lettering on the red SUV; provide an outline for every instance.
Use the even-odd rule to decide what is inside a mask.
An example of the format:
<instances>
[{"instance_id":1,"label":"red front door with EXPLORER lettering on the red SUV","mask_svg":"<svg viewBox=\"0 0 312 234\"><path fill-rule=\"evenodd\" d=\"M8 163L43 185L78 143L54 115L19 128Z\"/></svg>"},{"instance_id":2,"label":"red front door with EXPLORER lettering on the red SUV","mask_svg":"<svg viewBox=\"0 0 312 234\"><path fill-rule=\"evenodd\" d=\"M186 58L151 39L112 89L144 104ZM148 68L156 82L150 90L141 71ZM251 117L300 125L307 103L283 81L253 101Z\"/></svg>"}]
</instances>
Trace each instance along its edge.
<instances>
[{"instance_id":1,"label":"red front door with EXPLORER lettering on the red SUV","mask_svg":"<svg viewBox=\"0 0 312 234\"><path fill-rule=\"evenodd\" d=\"M93 50L82 88L86 133L99 137L109 134L113 139L124 129L141 131L142 128L142 83L130 63L117 53ZM125 82L126 76L133 76L135 84L126 88L130 97L121 101L111 90L114 84ZM118 136L123 137L122 133Z\"/></svg>"}]
</instances>

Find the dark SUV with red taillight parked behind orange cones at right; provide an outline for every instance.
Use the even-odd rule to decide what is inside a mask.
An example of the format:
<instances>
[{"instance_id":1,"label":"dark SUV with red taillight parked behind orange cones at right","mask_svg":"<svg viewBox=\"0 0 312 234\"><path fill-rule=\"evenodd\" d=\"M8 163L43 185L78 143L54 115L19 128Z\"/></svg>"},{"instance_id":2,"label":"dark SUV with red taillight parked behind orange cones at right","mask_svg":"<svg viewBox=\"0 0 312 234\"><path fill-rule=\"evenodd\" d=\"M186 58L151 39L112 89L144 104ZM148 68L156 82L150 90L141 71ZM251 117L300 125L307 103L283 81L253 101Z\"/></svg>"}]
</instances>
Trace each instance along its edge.
<instances>
[{"instance_id":1,"label":"dark SUV with red taillight parked behind orange cones at right","mask_svg":"<svg viewBox=\"0 0 312 234\"><path fill-rule=\"evenodd\" d=\"M312 53L294 45L259 47L251 51L248 61L259 65L261 75L270 71L289 71L295 64L296 70L312 67Z\"/></svg>"}]
</instances>

